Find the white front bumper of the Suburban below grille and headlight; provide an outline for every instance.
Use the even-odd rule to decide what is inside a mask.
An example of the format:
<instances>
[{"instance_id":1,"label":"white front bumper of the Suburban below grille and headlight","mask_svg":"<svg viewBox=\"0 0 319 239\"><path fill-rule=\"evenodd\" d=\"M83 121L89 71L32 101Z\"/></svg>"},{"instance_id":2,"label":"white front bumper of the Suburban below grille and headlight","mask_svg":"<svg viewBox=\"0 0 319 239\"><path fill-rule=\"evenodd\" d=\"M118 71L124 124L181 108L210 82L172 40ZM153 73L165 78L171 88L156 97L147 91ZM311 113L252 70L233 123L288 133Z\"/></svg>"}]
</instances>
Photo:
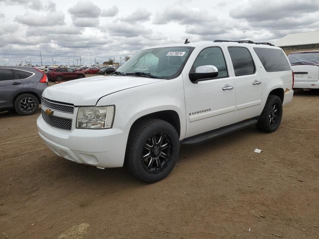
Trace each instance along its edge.
<instances>
[{"instance_id":1,"label":"white front bumper of the Suburban below grille and headlight","mask_svg":"<svg viewBox=\"0 0 319 239\"><path fill-rule=\"evenodd\" d=\"M60 157L101 168L122 167L130 127L109 129L58 129L42 116L36 121L38 133Z\"/></svg>"}]
</instances>

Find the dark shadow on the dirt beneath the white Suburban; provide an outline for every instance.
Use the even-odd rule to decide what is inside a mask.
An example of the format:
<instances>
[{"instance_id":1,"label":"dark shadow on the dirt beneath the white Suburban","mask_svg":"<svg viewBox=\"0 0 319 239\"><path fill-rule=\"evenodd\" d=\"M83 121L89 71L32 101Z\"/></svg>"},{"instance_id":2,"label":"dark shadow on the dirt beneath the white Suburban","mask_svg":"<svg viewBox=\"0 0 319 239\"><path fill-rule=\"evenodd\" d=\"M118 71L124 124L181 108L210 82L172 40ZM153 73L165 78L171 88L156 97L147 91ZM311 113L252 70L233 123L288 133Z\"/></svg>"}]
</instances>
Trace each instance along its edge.
<instances>
[{"instance_id":1,"label":"dark shadow on the dirt beneath the white Suburban","mask_svg":"<svg viewBox=\"0 0 319 239\"><path fill-rule=\"evenodd\" d=\"M183 167L192 167L188 164L192 163L197 157L210 155L214 150L222 150L225 148L225 145L227 145L227 147L232 147L232 144L235 145L236 141L238 142L241 138L261 133L262 132L258 131L255 127L249 127L241 131L234 132L231 135L221 136L202 144L181 146L180 155L176 164L184 164L182 165ZM106 168L104 170L98 169L94 166L78 164L67 159L63 159L55 155L49 149L44 150L47 152L47 155L43 156L45 160L40 160L40 165L32 165L32 167L35 168L30 169L30 172L39 171L39 168L44 169L46 172L41 170L42 174L48 176L51 180L58 179L59 181L60 179L63 179L62 181L64 181L64 183L68 182L68 185L81 185L81 189L84 189L85 187L90 188L92 185L107 185L106 188L109 189L115 189L119 186L134 188L149 185L131 176L125 167ZM209 160L218 161L220 159L212 157L209 158ZM172 174L174 174L174 170L170 175L168 175L168 177ZM41 180L39 180L39 184L40 181Z\"/></svg>"}]
</instances>

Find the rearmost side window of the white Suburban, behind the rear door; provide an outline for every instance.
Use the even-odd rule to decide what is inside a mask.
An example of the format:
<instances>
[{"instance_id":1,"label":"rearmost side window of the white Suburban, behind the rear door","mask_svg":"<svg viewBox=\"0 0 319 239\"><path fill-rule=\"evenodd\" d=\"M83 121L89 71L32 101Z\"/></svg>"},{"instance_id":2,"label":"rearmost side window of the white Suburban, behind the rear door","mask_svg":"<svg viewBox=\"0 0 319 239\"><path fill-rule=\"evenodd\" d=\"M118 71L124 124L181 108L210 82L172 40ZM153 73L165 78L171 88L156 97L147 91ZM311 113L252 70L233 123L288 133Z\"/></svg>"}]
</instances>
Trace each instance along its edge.
<instances>
[{"instance_id":1,"label":"rearmost side window of the white Suburban, behind the rear door","mask_svg":"<svg viewBox=\"0 0 319 239\"><path fill-rule=\"evenodd\" d=\"M291 71L290 64L282 50L254 47L254 51L267 72Z\"/></svg>"}]
</instances>

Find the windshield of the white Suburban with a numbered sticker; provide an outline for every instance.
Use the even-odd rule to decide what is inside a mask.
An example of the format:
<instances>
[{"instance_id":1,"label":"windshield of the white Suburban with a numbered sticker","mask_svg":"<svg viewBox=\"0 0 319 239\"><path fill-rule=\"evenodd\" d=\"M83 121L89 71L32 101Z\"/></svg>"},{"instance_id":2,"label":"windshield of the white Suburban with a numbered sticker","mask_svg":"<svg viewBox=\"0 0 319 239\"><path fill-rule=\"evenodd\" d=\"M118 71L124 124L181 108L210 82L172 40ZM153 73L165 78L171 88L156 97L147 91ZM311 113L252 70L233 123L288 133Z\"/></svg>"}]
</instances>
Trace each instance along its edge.
<instances>
[{"instance_id":1,"label":"windshield of the white Suburban with a numbered sticker","mask_svg":"<svg viewBox=\"0 0 319 239\"><path fill-rule=\"evenodd\" d=\"M173 79L180 75L193 49L193 47L182 46L142 50L122 65L118 71L124 74L147 73L160 79Z\"/></svg>"}]
</instances>

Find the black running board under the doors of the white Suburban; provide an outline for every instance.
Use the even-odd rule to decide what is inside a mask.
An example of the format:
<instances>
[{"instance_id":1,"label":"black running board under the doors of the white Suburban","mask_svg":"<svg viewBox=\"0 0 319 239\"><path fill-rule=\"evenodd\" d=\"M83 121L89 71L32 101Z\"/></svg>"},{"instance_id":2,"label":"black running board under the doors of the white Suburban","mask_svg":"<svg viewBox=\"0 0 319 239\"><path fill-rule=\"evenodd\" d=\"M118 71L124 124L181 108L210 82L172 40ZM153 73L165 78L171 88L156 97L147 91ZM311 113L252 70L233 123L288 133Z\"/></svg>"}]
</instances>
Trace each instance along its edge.
<instances>
[{"instance_id":1,"label":"black running board under the doors of the white Suburban","mask_svg":"<svg viewBox=\"0 0 319 239\"><path fill-rule=\"evenodd\" d=\"M192 145L192 144L197 144L197 143L202 143L205 142L207 140L213 139L213 138L217 138L220 137L222 135L243 129L243 128L247 128L253 124L256 124L258 122L258 118L253 118L253 119L248 119L245 121L241 121L238 123L234 123L228 126L224 126L221 128L217 128L205 133L201 133L198 135L194 135L188 138L185 138L183 140L180 141L181 144L183 145Z\"/></svg>"}]
</instances>

